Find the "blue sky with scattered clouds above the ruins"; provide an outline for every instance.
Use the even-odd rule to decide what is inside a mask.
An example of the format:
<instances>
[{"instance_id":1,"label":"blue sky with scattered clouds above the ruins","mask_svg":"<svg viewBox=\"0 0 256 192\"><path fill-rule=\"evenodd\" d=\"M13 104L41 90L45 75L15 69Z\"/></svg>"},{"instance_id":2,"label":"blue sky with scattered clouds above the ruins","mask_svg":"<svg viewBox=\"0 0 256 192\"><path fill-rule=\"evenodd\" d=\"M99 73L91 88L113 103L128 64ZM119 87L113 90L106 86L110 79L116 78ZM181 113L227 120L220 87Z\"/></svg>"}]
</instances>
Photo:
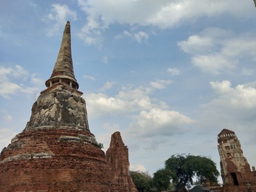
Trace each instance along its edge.
<instances>
[{"instance_id":1,"label":"blue sky with scattered clouds above the ruins","mask_svg":"<svg viewBox=\"0 0 256 192\"><path fill-rule=\"evenodd\" d=\"M0 0L0 148L46 89L67 21L104 151L120 131L130 170L153 174L173 154L192 154L220 171L217 137L227 128L256 165L252 0Z\"/></svg>"}]
</instances>

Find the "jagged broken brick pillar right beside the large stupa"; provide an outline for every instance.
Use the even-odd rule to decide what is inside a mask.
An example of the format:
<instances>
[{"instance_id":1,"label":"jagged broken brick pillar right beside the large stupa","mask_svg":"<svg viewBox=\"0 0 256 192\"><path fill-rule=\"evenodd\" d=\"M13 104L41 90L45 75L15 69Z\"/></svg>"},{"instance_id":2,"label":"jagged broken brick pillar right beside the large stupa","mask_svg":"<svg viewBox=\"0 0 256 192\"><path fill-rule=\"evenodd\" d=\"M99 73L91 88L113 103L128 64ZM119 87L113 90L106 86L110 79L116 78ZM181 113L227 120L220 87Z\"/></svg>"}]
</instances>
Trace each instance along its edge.
<instances>
[{"instance_id":1,"label":"jagged broken brick pillar right beside the large stupa","mask_svg":"<svg viewBox=\"0 0 256 192\"><path fill-rule=\"evenodd\" d=\"M124 145L120 132L115 132L111 136L110 148L106 152L107 163L110 164L114 172L114 182L119 183L121 191L137 191L132 177L129 176L129 153Z\"/></svg>"}]
</instances>

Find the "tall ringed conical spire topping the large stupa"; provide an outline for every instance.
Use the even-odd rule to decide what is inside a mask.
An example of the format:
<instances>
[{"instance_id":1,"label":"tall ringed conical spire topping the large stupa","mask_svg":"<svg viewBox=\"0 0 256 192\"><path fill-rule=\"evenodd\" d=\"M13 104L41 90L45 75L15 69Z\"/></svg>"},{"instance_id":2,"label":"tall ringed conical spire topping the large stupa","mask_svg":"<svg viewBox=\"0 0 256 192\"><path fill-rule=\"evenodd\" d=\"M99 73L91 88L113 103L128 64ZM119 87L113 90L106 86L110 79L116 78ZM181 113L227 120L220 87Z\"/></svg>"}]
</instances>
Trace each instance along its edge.
<instances>
[{"instance_id":1,"label":"tall ringed conical spire topping the large stupa","mask_svg":"<svg viewBox=\"0 0 256 192\"><path fill-rule=\"evenodd\" d=\"M61 48L58 52L58 58L53 68L53 73L45 82L45 85L49 88L59 83L70 86L73 89L78 89L78 82L75 79L73 70L70 21L67 21L63 32Z\"/></svg>"}]
</instances>

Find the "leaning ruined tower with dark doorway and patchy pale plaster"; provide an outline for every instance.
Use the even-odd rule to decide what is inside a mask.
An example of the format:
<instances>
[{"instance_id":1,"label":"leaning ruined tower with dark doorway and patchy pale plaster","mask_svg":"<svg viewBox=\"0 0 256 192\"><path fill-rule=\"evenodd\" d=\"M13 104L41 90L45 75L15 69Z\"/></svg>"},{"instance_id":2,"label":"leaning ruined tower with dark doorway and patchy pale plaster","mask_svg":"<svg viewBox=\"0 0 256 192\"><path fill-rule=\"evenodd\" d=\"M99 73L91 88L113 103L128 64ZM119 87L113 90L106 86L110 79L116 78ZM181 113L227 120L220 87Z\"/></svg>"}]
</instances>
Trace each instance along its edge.
<instances>
[{"instance_id":1,"label":"leaning ruined tower with dark doorway and patchy pale plaster","mask_svg":"<svg viewBox=\"0 0 256 192\"><path fill-rule=\"evenodd\" d=\"M218 134L218 151L223 191L256 191L255 176L234 131L223 129Z\"/></svg>"}]
</instances>

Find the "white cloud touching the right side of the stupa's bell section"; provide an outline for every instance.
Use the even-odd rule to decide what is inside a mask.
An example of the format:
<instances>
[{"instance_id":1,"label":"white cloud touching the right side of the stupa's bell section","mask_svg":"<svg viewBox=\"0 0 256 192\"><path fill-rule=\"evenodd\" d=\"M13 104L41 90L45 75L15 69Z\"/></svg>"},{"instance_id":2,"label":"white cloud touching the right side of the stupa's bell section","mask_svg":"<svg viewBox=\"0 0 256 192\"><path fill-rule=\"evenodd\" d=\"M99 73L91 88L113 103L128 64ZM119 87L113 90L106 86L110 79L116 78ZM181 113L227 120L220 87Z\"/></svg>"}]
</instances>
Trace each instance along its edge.
<instances>
[{"instance_id":1,"label":"white cloud touching the right side of the stupa's bell section","mask_svg":"<svg viewBox=\"0 0 256 192\"><path fill-rule=\"evenodd\" d=\"M166 103L158 102L150 97L155 89L165 89L172 83L171 80L156 80L149 86L123 86L117 95L108 96L103 93L86 95L87 109L91 117L103 114L121 115L131 112L141 112L154 107L166 109ZM112 82L107 82L105 87L110 88Z\"/></svg>"}]
</instances>

